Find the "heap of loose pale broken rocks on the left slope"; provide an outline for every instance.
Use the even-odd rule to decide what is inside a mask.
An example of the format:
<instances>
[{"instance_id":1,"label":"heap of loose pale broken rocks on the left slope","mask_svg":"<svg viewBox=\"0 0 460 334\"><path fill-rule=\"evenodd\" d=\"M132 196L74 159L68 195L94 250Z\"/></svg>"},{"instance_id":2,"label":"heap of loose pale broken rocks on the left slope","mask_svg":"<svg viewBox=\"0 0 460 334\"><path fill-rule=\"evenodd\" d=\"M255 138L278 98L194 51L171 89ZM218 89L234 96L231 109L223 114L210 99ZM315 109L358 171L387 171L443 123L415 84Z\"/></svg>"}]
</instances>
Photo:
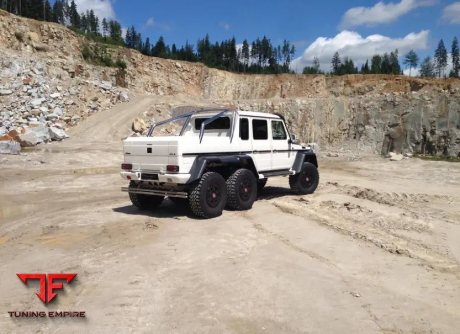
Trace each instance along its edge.
<instances>
[{"instance_id":1,"label":"heap of loose pale broken rocks on the left slope","mask_svg":"<svg viewBox=\"0 0 460 334\"><path fill-rule=\"evenodd\" d=\"M47 61L40 61L36 56L17 59L20 57L8 52L0 54L2 152L16 152L21 147L68 138L65 131L90 114L129 100L128 93L112 86L110 80L87 76L74 79L67 76L63 80L64 72L54 69L55 72L50 73ZM68 74L72 71L72 66L68 66ZM140 126L142 128L142 123Z\"/></svg>"}]
</instances>

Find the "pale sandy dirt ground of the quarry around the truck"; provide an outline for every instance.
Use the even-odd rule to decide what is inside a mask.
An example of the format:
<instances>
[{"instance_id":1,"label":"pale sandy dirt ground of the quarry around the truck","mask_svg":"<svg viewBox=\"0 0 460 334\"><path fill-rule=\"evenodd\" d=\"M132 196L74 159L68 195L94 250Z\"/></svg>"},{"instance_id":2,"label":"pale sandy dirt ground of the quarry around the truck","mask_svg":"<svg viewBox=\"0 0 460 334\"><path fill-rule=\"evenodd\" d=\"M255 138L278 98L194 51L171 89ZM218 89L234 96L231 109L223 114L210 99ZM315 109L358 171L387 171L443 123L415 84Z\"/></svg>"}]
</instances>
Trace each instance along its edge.
<instances>
[{"instance_id":1,"label":"pale sandy dirt ground of the quarry around the truck","mask_svg":"<svg viewBox=\"0 0 460 334\"><path fill-rule=\"evenodd\" d=\"M3 333L459 332L460 164L320 152L313 195L277 177L248 211L139 211L121 137L158 99L0 156ZM77 276L45 306L16 273ZM8 314L54 310L86 317Z\"/></svg>"}]
</instances>

